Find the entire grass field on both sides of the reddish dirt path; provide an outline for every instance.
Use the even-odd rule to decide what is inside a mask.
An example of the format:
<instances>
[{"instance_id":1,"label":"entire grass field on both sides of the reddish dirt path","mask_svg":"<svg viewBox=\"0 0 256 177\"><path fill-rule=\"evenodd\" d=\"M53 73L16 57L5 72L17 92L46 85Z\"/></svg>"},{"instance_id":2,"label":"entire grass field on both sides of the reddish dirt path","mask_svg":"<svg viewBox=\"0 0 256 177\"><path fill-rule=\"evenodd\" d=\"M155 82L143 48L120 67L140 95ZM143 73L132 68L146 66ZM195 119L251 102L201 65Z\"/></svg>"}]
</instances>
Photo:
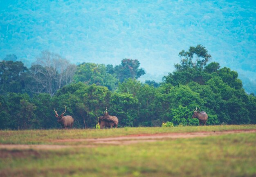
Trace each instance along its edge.
<instances>
[{"instance_id":1,"label":"entire grass field on both sides of the reddish dirt path","mask_svg":"<svg viewBox=\"0 0 256 177\"><path fill-rule=\"evenodd\" d=\"M131 134L256 130L256 125L104 130L0 131L1 144L67 145L55 140ZM89 142L90 143L90 142ZM70 148L0 148L0 177L255 177L256 133L163 139L128 145L76 142ZM18 146L17 146L18 147Z\"/></svg>"}]
</instances>

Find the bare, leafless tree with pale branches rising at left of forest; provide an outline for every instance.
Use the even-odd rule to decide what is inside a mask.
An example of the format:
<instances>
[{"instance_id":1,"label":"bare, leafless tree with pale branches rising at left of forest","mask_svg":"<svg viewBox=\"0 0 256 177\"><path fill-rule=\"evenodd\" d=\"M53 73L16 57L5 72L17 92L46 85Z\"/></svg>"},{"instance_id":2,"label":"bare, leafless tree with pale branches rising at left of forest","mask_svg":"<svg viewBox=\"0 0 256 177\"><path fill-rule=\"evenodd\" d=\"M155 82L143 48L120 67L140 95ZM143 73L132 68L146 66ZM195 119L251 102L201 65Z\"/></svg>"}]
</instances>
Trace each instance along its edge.
<instances>
[{"instance_id":1,"label":"bare, leafless tree with pale branches rising at left of forest","mask_svg":"<svg viewBox=\"0 0 256 177\"><path fill-rule=\"evenodd\" d=\"M29 84L31 92L46 92L54 95L58 89L72 82L76 66L58 54L43 51L30 68L33 85Z\"/></svg>"}]
</instances>

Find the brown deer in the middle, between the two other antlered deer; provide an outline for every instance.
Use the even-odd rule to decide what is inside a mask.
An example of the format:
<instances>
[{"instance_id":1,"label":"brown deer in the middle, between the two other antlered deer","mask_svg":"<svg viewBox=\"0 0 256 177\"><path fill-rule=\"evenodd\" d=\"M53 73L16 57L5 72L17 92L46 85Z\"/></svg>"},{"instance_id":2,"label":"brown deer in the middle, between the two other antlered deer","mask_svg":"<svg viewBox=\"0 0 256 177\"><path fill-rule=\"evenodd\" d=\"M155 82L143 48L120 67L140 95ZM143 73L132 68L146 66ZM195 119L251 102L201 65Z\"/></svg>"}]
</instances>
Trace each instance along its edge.
<instances>
[{"instance_id":1,"label":"brown deer in the middle, between the two other antlered deer","mask_svg":"<svg viewBox=\"0 0 256 177\"><path fill-rule=\"evenodd\" d=\"M117 128L118 119L115 116L108 115L107 108L106 108L106 112L104 111L104 116L99 117L98 123L100 125L100 128L104 128L104 127L112 128L114 126L115 128Z\"/></svg>"}]
</instances>

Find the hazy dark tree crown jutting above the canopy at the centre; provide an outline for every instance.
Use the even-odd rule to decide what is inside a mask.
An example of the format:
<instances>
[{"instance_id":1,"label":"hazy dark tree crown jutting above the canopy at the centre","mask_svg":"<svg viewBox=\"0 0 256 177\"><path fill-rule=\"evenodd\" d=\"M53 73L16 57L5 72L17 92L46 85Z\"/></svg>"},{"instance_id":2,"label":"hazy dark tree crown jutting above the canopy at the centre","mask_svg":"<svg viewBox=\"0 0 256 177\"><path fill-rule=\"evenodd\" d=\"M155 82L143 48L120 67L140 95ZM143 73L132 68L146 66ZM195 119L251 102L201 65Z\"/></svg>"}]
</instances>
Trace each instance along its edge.
<instances>
[{"instance_id":1,"label":"hazy dark tree crown jutting above the canopy at the centre","mask_svg":"<svg viewBox=\"0 0 256 177\"><path fill-rule=\"evenodd\" d=\"M139 69L139 61L132 59L123 59L121 65L114 67L114 72L120 82L123 82L126 78L139 78L145 74L144 69ZM111 70L110 70L111 71Z\"/></svg>"}]
</instances>

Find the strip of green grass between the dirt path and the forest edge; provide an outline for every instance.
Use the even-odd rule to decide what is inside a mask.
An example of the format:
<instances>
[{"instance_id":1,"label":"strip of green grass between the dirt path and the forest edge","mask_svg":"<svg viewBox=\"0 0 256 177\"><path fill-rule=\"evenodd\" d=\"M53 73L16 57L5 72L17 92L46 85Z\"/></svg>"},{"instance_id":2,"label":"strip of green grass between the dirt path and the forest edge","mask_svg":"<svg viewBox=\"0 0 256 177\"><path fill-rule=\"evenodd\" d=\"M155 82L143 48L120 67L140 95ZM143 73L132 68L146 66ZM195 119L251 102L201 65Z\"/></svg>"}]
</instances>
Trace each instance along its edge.
<instances>
[{"instance_id":1,"label":"strip of green grass between the dirt path and the forest edge","mask_svg":"<svg viewBox=\"0 0 256 177\"><path fill-rule=\"evenodd\" d=\"M155 134L171 132L199 132L256 129L256 125L216 125L216 126L184 126L172 128L114 128L114 129L72 129L72 130L0 130L2 144L51 144L53 139L81 139L99 137L119 137L130 134Z\"/></svg>"}]
</instances>

